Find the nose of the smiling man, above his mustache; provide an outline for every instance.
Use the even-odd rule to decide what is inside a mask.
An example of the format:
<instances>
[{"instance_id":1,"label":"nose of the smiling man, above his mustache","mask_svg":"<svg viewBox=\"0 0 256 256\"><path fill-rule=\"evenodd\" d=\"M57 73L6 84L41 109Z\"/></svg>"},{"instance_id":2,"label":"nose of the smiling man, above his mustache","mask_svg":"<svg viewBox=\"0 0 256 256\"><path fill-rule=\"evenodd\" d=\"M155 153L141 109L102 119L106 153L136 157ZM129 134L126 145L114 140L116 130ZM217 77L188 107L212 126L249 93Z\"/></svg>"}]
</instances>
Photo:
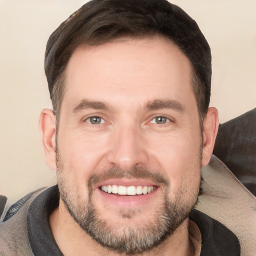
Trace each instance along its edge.
<instances>
[{"instance_id":1,"label":"nose of the smiling man, above his mustache","mask_svg":"<svg viewBox=\"0 0 256 256\"><path fill-rule=\"evenodd\" d=\"M146 140L139 128L131 125L118 127L110 143L107 160L111 165L129 170L135 165L147 164Z\"/></svg>"}]
</instances>

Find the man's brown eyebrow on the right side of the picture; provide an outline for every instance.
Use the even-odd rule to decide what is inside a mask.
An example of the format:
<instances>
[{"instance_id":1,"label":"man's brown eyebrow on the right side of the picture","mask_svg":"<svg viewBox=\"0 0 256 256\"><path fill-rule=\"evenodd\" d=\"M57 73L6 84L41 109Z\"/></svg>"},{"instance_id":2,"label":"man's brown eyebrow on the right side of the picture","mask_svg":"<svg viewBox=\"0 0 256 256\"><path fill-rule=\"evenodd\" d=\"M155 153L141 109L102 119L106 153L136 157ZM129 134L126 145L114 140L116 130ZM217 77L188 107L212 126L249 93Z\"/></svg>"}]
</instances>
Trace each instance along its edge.
<instances>
[{"instance_id":1,"label":"man's brown eyebrow on the right side of the picture","mask_svg":"<svg viewBox=\"0 0 256 256\"><path fill-rule=\"evenodd\" d=\"M167 108L178 112L184 112L186 109L183 104L174 99L155 99L147 102L144 108L148 110Z\"/></svg>"}]
</instances>

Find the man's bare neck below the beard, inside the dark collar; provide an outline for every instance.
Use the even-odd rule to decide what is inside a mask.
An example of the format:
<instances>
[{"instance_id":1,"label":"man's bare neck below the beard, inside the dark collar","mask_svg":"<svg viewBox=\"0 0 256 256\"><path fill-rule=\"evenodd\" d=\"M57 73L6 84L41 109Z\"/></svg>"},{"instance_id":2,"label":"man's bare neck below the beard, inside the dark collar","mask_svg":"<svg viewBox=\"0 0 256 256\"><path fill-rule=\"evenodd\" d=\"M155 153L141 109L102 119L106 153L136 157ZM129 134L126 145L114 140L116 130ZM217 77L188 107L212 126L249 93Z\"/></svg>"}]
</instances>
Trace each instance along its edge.
<instances>
[{"instance_id":1,"label":"man's bare neck below the beard, inside the dark collar","mask_svg":"<svg viewBox=\"0 0 256 256\"><path fill-rule=\"evenodd\" d=\"M93 240L67 212L63 202L50 214L49 224L53 237L65 256L98 255L117 256L126 255L111 251ZM82 241L82 242L81 242ZM185 219L162 243L150 251L139 253L139 256L191 256L193 248L189 241L188 219ZM136 256L136 255L134 255Z\"/></svg>"}]
</instances>

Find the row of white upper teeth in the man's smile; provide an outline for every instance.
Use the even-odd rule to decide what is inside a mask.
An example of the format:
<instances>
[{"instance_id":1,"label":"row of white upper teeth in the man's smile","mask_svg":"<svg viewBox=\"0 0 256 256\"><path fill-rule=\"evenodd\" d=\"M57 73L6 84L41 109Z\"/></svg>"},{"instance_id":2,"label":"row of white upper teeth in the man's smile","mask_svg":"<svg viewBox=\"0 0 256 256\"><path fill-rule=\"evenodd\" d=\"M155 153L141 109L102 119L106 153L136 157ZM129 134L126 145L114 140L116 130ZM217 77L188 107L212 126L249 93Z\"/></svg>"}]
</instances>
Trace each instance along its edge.
<instances>
[{"instance_id":1,"label":"row of white upper teeth in the man's smile","mask_svg":"<svg viewBox=\"0 0 256 256\"><path fill-rule=\"evenodd\" d=\"M101 190L107 193L121 194L121 195L134 195L134 194L146 194L152 192L153 186L117 186L117 185L104 185L101 186Z\"/></svg>"}]
</instances>

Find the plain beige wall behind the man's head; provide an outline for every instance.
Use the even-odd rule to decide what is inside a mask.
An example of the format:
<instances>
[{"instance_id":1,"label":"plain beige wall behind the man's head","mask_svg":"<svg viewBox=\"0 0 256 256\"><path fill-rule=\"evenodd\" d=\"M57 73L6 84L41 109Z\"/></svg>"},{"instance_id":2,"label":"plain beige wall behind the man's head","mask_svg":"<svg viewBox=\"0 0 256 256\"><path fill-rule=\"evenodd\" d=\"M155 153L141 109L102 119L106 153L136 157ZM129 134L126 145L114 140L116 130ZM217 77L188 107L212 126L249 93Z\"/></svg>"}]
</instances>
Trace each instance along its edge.
<instances>
[{"instance_id":1,"label":"plain beige wall behind the man's head","mask_svg":"<svg viewBox=\"0 0 256 256\"><path fill-rule=\"evenodd\" d=\"M50 106L43 55L51 31L82 0L0 0L0 193L9 203L55 182L38 131ZM256 106L256 0L173 0L212 49L211 105L226 121Z\"/></svg>"}]
</instances>

